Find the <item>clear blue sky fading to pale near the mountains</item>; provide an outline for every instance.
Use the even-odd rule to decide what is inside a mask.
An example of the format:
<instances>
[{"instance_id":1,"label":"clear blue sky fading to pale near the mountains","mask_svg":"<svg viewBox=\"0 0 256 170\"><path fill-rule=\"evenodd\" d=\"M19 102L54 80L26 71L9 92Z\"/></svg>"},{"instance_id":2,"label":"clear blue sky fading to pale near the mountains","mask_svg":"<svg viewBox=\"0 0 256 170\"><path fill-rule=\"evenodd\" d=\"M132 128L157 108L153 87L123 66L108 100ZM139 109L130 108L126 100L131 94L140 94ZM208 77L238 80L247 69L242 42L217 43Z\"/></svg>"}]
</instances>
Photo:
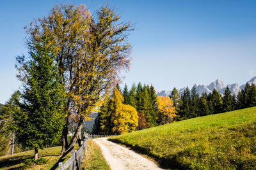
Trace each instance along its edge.
<instances>
[{"instance_id":1,"label":"clear blue sky fading to pale near the mountains","mask_svg":"<svg viewBox=\"0 0 256 170\"><path fill-rule=\"evenodd\" d=\"M90 11L106 1L0 1L0 103L19 89L15 57L26 54L24 26L61 3L85 4ZM109 1L122 20L136 27L129 41L132 65L123 82L152 84L157 91L208 85L242 85L256 76L256 1Z\"/></svg>"}]
</instances>

